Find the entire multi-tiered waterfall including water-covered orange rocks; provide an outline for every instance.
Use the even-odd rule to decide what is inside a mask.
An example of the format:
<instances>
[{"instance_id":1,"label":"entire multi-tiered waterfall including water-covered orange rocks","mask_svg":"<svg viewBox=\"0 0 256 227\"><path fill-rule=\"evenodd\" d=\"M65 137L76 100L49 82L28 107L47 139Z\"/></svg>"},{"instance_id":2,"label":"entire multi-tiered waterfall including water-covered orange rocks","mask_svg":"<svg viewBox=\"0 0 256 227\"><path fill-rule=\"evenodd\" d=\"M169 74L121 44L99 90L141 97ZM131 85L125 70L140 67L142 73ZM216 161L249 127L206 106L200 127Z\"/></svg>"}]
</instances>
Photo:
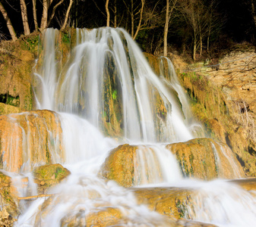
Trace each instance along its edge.
<instances>
[{"instance_id":1,"label":"entire multi-tiered waterfall including water-covered orange rocks","mask_svg":"<svg viewBox=\"0 0 256 227\"><path fill-rule=\"evenodd\" d=\"M38 110L21 113L23 120L12 114L5 117L11 132L2 138L0 135L0 148L5 149L1 157L3 169L17 172L9 176L17 179L14 186L20 196L36 194L29 173L34 166L61 163L71 175L47 191L52 195L48 199L24 204L16 226L97 225L96 220L91 220L92 213L100 219L104 212L112 215L107 216L108 225L166 226L163 216L138 204L131 189L102 178L112 174L103 169L107 160L117 164L124 177L131 176L131 186L191 190L193 204L181 201L186 219L221 226L249 226L256 222L254 192L250 194L224 180L186 179L182 170L194 170L195 155L185 157L181 153L180 166L175 158L178 153L172 154L166 148L185 141L189 146L189 140L204 135L200 123L194 121L168 58L160 58L160 75L156 75L125 30L107 27L77 29L68 44L71 51L64 59L60 57L60 37L58 30L44 31L43 51L36 61L33 84ZM15 135L14 131L19 135L8 138L8 134ZM194 148L200 153L198 146L195 144ZM232 166L232 173L242 176L242 168L235 166L231 150L222 145L220 149L212 145L212 150L213 154L207 155L214 160L216 172L225 166L225 162L220 165L224 158L230 164L226 166ZM17 157L17 151L21 151L21 157ZM117 154L119 151L124 156L122 152ZM38 159L33 158L33 152ZM112 156L114 159L110 160ZM198 157L207 172L204 155ZM191 161L189 168L185 158ZM129 173L128 164L122 161L130 161ZM18 163L16 169L12 167L14 163ZM29 189L22 189L23 176ZM158 194L156 197L162 199ZM238 217L243 212L248 214L246 222Z\"/></svg>"}]
</instances>

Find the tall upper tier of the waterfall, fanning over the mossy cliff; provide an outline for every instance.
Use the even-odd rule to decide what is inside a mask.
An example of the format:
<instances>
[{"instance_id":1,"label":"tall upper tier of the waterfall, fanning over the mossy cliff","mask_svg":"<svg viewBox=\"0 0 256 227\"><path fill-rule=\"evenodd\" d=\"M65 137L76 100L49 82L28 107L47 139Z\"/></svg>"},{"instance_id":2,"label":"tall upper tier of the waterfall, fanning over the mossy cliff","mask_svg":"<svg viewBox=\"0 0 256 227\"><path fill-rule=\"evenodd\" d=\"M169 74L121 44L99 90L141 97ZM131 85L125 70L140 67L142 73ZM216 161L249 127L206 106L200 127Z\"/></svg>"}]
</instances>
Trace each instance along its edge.
<instances>
[{"instance_id":1,"label":"tall upper tier of the waterfall, fanning over the mossy cliff","mask_svg":"<svg viewBox=\"0 0 256 227\"><path fill-rule=\"evenodd\" d=\"M36 72L43 87L49 85L36 92L39 109L77 114L105 132L112 123L129 141L193 138L175 98L125 30L77 30L77 45L58 75L54 31L44 33L43 53L49 57Z\"/></svg>"}]
</instances>

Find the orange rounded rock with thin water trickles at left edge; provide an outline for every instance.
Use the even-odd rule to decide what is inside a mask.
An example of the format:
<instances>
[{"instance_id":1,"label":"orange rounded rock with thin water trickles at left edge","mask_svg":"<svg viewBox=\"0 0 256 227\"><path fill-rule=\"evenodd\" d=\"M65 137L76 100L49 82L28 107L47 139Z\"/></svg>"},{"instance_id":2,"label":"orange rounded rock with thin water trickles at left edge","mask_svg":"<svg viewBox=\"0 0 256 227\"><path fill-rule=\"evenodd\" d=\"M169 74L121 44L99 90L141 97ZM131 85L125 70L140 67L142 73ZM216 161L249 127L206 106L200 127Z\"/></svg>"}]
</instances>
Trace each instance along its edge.
<instances>
[{"instance_id":1,"label":"orange rounded rock with thin water trickles at left edge","mask_svg":"<svg viewBox=\"0 0 256 227\"><path fill-rule=\"evenodd\" d=\"M62 157L61 135L58 114L49 110L0 116L0 168L18 172L52 163Z\"/></svg>"}]
</instances>

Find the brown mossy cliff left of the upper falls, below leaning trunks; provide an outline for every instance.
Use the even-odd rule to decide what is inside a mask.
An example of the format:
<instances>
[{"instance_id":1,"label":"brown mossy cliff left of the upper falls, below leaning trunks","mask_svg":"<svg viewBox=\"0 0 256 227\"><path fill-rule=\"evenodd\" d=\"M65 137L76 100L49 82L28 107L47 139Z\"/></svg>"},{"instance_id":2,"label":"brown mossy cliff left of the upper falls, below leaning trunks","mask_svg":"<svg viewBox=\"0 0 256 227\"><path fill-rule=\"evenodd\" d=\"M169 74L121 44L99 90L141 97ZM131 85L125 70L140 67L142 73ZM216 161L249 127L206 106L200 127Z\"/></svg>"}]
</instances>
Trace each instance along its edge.
<instances>
[{"instance_id":1,"label":"brown mossy cliff left of the upper falls, below leaning trunks","mask_svg":"<svg viewBox=\"0 0 256 227\"><path fill-rule=\"evenodd\" d=\"M32 109L31 73L38 36L26 39L0 44L0 114Z\"/></svg>"}]
</instances>

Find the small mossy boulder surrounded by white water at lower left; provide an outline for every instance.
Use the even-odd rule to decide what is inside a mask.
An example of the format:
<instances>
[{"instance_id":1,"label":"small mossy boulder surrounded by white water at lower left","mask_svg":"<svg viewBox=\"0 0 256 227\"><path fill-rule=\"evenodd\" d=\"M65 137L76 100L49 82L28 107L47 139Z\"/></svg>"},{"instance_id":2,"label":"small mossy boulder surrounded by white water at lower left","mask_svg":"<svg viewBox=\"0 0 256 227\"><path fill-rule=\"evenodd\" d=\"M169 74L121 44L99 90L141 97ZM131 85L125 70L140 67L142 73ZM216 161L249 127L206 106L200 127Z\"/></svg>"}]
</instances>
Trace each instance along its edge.
<instances>
[{"instance_id":1,"label":"small mossy boulder surrounded by white water at lower left","mask_svg":"<svg viewBox=\"0 0 256 227\"><path fill-rule=\"evenodd\" d=\"M61 164L49 164L33 169L34 181L39 185L39 194L45 194L47 189L58 185L70 174L70 171Z\"/></svg>"}]
</instances>

